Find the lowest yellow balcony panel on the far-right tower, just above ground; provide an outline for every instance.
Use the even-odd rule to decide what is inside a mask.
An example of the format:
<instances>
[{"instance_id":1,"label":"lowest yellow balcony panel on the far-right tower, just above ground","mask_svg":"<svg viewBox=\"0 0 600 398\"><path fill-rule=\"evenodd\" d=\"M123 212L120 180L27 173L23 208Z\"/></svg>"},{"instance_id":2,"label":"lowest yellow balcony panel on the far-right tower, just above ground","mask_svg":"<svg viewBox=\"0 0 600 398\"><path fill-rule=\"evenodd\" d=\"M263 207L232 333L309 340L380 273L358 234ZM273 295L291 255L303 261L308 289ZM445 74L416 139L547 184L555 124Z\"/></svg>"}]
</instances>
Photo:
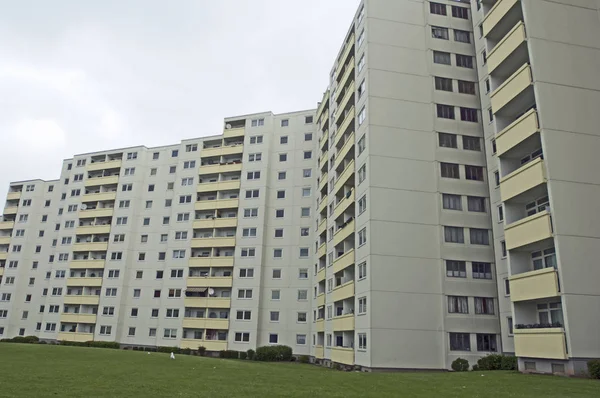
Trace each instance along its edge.
<instances>
[{"instance_id":1,"label":"lowest yellow balcony panel on the far-right tower, just above ground","mask_svg":"<svg viewBox=\"0 0 600 398\"><path fill-rule=\"evenodd\" d=\"M568 359L562 328L515 329L514 333L515 355L518 357Z\"/></svg>"}]
</instances>

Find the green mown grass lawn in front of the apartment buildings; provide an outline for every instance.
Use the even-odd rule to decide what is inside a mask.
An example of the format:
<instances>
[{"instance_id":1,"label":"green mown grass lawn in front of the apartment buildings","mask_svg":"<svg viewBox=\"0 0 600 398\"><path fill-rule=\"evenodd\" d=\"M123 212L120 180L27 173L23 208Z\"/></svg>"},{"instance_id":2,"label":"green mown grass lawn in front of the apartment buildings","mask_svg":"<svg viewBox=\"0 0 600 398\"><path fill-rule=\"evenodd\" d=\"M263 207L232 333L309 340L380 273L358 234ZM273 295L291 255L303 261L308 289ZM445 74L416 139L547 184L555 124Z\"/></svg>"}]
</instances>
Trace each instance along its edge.
<instances>
[{"instance_id":1,"label":"green mown grass lawn in front of the apartment buildings","mask_svg":"<svg viewBox=\"0 0 600 398\"><path fill-rule=\"evenodd\" d=\"M600 382L514 372L359 373L50 345L0 344L0 397L600 397Z\"/></svg>"}]
</instances>

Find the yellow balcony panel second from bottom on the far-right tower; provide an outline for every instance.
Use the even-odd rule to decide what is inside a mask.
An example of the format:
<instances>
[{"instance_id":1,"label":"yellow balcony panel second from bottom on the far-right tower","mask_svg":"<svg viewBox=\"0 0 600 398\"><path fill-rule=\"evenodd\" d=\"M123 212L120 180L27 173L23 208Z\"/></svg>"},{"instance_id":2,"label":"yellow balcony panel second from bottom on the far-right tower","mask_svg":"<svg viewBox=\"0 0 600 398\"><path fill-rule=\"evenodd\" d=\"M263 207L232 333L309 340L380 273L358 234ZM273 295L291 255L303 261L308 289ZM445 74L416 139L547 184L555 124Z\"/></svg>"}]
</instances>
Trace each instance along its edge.
<instances>
[{"instance_id":1,"label":"yellow balcony panel second from bottom on the far-right tower","mask_svg":"<svg viewBox=\"0 0 600 398\"><path fill-rule=\"evenodd\" d=\"M554 268L544 268L510 277L511 301L537 300L560 294Z\"/></svg>"}]
</instances>

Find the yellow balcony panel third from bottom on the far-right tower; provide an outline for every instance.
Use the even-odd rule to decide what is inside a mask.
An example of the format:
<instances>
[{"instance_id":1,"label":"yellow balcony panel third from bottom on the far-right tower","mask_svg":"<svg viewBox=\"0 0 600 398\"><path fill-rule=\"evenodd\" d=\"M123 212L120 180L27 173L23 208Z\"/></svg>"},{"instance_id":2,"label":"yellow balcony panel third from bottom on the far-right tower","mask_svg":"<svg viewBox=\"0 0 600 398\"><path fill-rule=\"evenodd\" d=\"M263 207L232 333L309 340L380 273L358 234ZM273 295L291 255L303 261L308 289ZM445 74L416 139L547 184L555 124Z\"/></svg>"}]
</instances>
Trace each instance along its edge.
<instances>
[{"instance_id":1,"label":"yellow balcony panel third from bottom on the far-right tower","mask_svg":"<svg viewBox=\"0 0 600 398\"><path fill-rule=\"evenodd\" d=\"M542 211L533 216L526 217L504 228L504 238L508 250L551 237L552 220L548 211Z\"/></svg>"}]
</instances>

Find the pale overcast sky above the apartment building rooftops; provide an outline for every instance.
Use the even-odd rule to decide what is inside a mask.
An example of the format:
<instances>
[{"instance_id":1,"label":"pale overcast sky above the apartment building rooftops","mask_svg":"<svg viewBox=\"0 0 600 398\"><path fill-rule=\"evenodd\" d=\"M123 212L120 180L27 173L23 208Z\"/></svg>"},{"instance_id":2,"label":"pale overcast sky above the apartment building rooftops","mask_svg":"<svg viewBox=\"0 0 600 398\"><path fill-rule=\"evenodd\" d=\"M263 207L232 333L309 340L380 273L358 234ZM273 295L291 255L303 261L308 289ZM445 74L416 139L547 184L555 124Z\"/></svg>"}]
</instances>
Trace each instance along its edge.
<instances>
[{"instance_id":1,"label":"pale overcast sky above the apartment building rooftops","mask_svg":"<svg viewBox=\"0 0 600 398\"><path fill-rule=\"evenodd\" d=\"M0 204L74 154L310 109L358 0L0 0Z\"/></svg>"}]
</instances>

